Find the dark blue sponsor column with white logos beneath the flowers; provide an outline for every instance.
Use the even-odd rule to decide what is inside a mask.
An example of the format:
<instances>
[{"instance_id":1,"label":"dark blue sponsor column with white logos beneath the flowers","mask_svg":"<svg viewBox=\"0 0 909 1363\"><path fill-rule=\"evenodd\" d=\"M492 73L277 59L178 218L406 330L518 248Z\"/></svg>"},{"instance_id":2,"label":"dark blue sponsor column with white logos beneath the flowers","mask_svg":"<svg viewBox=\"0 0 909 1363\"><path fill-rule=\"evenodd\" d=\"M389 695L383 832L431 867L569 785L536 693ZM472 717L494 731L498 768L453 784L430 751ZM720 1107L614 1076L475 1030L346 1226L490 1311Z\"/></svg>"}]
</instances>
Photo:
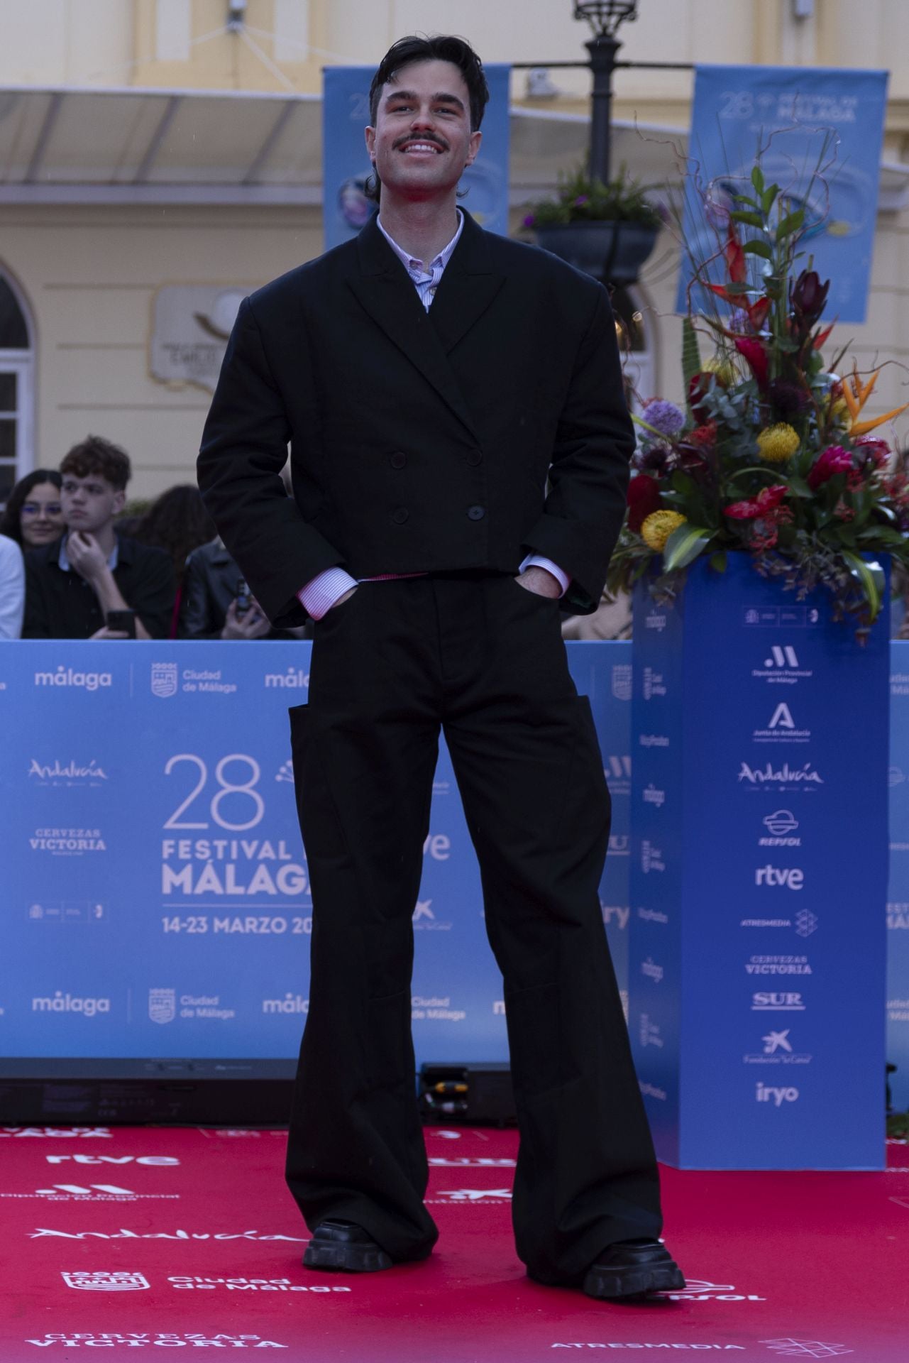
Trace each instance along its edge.
<instances>
[{"instance_id":1,"label":"dark blue sponsor column with white logos beneath the flowers","mask_svg":"<svg viewBox=\"0 0 909 1363\"><path fill-rule=\"evenodd\" d=\"M887 668L744 555L635 601L630 1032L661 1159L880 1168Z\"/></svg>"}]
</instances>

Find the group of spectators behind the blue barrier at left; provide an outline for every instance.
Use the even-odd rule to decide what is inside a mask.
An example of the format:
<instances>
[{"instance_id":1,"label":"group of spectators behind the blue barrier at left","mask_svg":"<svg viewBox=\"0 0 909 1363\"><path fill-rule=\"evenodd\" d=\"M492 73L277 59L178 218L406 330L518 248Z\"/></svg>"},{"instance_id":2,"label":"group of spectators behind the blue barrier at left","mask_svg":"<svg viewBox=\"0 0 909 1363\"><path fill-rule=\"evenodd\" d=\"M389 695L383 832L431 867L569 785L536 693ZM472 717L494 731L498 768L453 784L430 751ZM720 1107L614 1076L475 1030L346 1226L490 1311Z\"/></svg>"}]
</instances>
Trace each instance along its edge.
<instances>
[{"instance_id":1,"label":"group of spectators behind the blue barrier at left","mask_svg":"<svg viewBox=\"0 0 909 1363\"><path fill-rule=\"evenodd\" d=\"M273 630L198 488L125 515L125 450L90 435L0 517L0 639L262 639Z\"/></svg>"}]
</instances>

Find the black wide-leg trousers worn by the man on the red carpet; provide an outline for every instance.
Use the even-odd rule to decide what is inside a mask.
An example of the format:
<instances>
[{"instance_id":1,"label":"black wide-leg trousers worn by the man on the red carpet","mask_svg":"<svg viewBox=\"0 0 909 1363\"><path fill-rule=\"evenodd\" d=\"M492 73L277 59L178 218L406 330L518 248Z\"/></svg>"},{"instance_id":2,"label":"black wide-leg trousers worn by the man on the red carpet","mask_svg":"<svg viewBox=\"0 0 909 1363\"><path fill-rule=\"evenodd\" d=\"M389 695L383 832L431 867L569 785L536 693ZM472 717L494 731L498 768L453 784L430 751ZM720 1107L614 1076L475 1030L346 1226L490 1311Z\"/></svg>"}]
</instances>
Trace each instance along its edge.
<instances>
[{"instance_id":1,"label":"black wide-leg trousers worn by the man on the red carpet","mask_svg":"<svg viewBox=\"0 0 909 1363\"><path fill-rule=\"evenodd\" d=\"M511 577L451 575L363 583L315 627L290 711L313 913L286 1172L309 1228L354 1221L395 1259L436 1240L410 973L442 728L504 977L517 1249L570 1283L662 1223L600 910L609 793L559 620Z\"/></svg>"}]
</instances>

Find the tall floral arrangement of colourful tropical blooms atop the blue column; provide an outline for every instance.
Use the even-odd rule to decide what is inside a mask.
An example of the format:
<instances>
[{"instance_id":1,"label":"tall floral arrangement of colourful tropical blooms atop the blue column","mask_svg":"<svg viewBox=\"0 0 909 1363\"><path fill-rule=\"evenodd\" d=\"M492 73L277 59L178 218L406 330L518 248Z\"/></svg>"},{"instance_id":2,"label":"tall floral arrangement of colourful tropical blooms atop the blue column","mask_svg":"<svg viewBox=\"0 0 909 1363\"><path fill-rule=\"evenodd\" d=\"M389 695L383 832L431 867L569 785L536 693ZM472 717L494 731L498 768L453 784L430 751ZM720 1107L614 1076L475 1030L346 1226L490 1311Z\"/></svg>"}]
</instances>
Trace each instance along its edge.
<instances>
[{"instance_id":1,"label":"tall floral arrangement of colourful tropical blooms atop the blue column","mask_svg":"<svg viewBox=\"0 0 909 1363\"><path fill-rule=\"evenodd\" d=\"M685 567L707 555L750 553L765 577L807 596L818 585L834 617L863 639L882 602L890 553L909 566L909 478L872 432L905 406L869 420L864 409L880 373L827 368L822 324L830 281L800 269L804 210L760 165L743 192L709 204L718 249L694 262L694 284L713 309L683 320L684 410L654 399L639 429L628 512L609 571L609 590L651 574L657 598L672 598ZM722 263L724 282L710 281ZM691 292L690 292L691 298ZM713 353L700 358L699 333Z\"/></svg>"}]
</instances>

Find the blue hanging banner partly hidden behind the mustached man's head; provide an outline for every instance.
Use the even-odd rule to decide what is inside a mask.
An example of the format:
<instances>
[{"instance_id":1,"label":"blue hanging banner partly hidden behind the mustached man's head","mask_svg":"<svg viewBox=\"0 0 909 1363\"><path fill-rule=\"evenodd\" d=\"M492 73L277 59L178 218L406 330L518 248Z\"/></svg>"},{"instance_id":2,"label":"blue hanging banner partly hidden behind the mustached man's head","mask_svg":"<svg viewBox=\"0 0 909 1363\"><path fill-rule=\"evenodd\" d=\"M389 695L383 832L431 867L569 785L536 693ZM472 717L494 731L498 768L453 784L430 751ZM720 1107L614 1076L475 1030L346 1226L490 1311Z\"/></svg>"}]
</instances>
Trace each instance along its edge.
<instances>
[{"instance_id":1,"label":"blue hanging banner partly hidden behind the mustached man's head","mask_svg":"<svg viewBox=\"0 0 909 1363\"><path fill-rule=\"evenodd\" d=\"M349 241L375 213L365 195L372 173L364 140L369 123L369 83L375 67L326 67L323 72L323 213L326 251ZM511 67L484 67L489 104L482 119L480 155L461 177L459 200L480 226L508 232L508 89Z\"/></svg>"}]
</instances>

